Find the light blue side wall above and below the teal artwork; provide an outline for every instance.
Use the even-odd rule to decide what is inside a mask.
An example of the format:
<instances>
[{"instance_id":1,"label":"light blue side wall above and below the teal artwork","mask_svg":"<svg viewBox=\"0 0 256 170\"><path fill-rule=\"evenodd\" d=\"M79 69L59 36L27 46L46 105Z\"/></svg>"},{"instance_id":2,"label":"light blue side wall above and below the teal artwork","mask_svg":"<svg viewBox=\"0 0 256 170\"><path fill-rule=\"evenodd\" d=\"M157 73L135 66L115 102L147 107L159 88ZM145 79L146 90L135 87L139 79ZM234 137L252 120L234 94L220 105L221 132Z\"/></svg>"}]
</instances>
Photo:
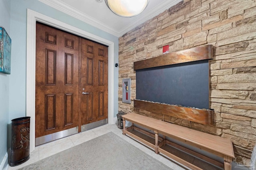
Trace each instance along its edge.
<instances>
[{"instance_id":1,"label":"light blue side wall above and below the teal artwork","mask_svg":"<svg viewBox=\"0 0 256 170\"><path fill-rule=\"evenodd\" d=\"M4 27L8 35L12 38L10 32L11 21L11 2L10 0L0 0L0 25ZM11 70L12 71L12 70ZM7 126L9 123L9 86L10 76L0 73L0 163L7 152Z\"/></svg>"}]
</instances>

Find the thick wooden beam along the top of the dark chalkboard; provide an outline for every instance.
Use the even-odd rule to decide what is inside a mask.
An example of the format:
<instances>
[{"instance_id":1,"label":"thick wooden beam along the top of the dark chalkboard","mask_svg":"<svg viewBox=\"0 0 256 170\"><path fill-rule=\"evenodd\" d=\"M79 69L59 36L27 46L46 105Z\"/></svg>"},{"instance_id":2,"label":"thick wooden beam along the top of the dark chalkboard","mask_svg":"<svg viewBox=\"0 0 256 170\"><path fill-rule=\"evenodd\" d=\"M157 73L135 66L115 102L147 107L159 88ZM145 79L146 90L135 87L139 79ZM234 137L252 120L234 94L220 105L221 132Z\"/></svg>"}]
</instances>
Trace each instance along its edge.
<instances>
[{"instance_id":1,"label":"thick wooden beam along the top of the dark chalkboard","mask_svg":"<svg viewBox=\"0 0 256 170\"><path fill-rule=\"evenodd\" d=\"M134 62L134 70L213 59L213 45L204 45Z\"/></svg>"}]
</instances>

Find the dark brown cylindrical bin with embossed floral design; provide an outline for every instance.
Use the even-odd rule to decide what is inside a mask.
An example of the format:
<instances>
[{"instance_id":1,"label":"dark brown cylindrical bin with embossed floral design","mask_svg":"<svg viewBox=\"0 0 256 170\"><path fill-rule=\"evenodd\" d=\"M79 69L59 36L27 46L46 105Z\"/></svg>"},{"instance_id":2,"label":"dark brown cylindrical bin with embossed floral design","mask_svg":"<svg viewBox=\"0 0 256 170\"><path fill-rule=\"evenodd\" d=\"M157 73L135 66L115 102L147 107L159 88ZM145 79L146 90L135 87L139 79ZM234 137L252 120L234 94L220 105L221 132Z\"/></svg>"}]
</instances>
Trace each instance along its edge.
<instances>
[{"instance_id":1,"label":"dark brown cylindrical bin with embossed floral design","mask_svg":"<svg viewBox=\"0 0 256 170\"><path fill-rule=\"evenodd\" d=\"M10 166L26 162L30 156L30 117L12 119L12 146Z\"/></svg>"}]
</instances>

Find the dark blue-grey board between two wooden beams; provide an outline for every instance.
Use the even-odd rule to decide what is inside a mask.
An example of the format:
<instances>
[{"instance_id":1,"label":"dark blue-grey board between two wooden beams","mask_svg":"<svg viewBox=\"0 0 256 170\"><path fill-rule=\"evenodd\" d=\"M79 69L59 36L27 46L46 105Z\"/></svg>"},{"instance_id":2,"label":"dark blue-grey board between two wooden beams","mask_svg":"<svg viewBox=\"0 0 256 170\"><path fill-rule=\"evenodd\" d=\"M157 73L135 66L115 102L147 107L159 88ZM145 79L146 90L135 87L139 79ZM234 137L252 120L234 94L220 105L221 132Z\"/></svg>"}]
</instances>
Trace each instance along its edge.
<instances>
[{"instance_id":1,"label":"dark blue-grey board between two wooden beams","mask_svg":"<svg viewBox=\"0 0 256 170\"><path fill-rule=\"evenodd\" d=\"M209 109L208 60L136 70L136 99Z\"/></svg>"}]
</instances>

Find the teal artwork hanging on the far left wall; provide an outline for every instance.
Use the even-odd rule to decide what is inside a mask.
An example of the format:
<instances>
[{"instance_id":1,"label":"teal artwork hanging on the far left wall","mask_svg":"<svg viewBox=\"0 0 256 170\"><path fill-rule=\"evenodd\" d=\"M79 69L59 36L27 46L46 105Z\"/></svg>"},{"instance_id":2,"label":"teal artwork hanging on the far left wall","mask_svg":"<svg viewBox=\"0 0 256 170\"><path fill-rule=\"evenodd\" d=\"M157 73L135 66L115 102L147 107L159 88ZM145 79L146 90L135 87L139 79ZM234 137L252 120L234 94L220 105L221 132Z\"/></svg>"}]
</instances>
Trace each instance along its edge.
<instances>
[{"instance_id":1,"label":"teal artwork hanging on the far left wall","mask_svg":"<svg viewBox=\"0 0 256 170\"><path fill-rule=\"evenodd\" d=\"M0 72L11 74L12 40L4 27L0 26Z\"/></svg>"}]
</instances>

